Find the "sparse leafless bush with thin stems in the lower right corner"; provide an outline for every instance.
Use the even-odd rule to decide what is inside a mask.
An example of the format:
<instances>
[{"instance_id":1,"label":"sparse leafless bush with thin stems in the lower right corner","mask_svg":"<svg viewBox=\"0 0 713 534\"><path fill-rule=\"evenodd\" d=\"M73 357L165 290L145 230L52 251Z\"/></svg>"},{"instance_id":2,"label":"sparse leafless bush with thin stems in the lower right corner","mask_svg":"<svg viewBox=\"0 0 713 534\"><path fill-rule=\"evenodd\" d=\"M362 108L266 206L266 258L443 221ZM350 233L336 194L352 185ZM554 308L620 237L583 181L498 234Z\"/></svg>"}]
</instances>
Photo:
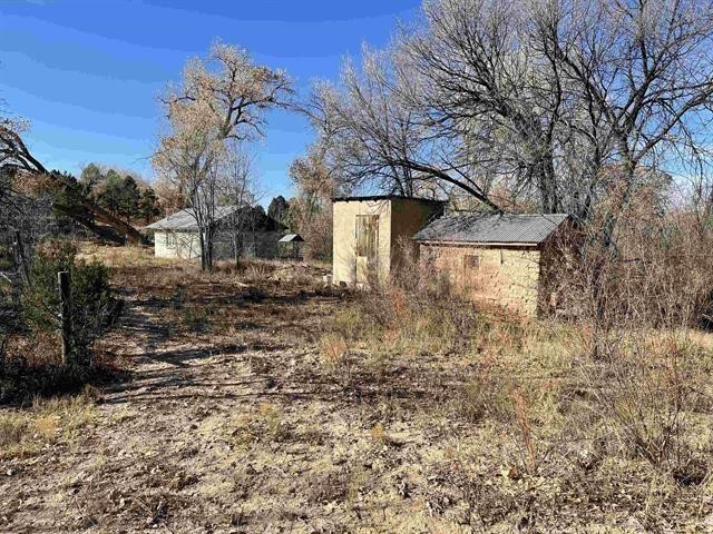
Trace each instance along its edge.
<instances>
[{"instance_id":1,"label":"sparse leafless bush with thin stems in the lower right corner","mask_svg":"<svg viewBox=\"0 0 713 534\"><path fill-rule=\"evenodd\" d=\"M592 406L625 455L639 456L676 478L710 457L693 446L691 425L705 390L705 356L683 332L627 329L599 343L597 359L582 372Z\"/></svg>"}]
</instances>

